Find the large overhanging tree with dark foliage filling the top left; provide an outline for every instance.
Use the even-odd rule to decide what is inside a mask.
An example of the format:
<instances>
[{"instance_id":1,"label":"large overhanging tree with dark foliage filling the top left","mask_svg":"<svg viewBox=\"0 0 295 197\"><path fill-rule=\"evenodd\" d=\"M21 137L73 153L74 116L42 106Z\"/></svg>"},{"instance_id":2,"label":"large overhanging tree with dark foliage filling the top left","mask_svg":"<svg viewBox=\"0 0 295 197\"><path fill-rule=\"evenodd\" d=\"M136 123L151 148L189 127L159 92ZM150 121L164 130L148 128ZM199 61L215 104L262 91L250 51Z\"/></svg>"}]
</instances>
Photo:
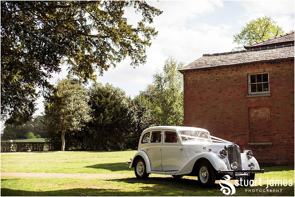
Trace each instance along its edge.
<instances>
[{"instance_id":1,"label":"large overhanging tree with dark foliage filling the top left","mask_svg":"<svg viewBox=\"0 0 295 197\"><path fill-rule=\"evenodd\" d=\"M142 15L136 27L124 17L128 8ZM86 82L127 56L133 67L145 63L157 35L148 23L161 13L145 1L1 1L1 120L30 120L62 64Z\"/></svg>"}]
</instances>

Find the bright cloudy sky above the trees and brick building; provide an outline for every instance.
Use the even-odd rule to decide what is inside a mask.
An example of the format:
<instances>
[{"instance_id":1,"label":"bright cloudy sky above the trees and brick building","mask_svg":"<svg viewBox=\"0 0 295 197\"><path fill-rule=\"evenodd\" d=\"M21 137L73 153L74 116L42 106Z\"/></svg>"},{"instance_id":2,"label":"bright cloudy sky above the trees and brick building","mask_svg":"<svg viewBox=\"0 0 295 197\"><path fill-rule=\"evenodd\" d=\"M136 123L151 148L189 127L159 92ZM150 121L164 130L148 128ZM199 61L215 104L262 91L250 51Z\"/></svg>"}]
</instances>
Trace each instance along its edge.
<instances>
[{"instance_id":1,"label":"bright cloudy sky above the trees and brick building","mask_svg":"<svg viewBox=\"0 0 295 197\"><path fill-rule=\"evenodd\" d=\"M116 68L110 68L97 81L110 83L125 91L132 98L152 82L152 74L163 66L169 55L189 64L205 53L228 52L237 45L233 35L251 19L271 17L285 32L294 30L294 1L148 1L163 11L151 24L158 36L147 48L145 65L132 68L127 58ZM139 15L133 10L125 12L131 24L137 24ZM63 72L50 80L66 77ZM44 111L43 98L38 101L39 110Z\"/></svg>"}]
</instances>

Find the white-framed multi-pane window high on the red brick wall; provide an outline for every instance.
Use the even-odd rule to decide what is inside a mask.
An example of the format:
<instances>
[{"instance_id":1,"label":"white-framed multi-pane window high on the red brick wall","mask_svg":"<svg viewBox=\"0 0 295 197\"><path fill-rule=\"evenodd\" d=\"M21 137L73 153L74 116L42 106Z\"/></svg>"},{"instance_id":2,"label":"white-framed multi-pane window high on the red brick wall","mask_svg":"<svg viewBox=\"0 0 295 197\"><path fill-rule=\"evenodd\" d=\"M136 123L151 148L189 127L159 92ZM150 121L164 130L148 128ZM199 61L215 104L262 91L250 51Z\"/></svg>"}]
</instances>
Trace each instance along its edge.
<instances>
[{"instance_id":1,"label":"white-framed multi-pane window high on the red brick wall","mask_svg":"<svg viewBox=\"0 0 295 197\"><path fill-rule=\"evenodd\" d=\"M248 74L248 90L249 94L264 94L269 91L269 74L253 73Z\"/></svg>"}]
</instances>

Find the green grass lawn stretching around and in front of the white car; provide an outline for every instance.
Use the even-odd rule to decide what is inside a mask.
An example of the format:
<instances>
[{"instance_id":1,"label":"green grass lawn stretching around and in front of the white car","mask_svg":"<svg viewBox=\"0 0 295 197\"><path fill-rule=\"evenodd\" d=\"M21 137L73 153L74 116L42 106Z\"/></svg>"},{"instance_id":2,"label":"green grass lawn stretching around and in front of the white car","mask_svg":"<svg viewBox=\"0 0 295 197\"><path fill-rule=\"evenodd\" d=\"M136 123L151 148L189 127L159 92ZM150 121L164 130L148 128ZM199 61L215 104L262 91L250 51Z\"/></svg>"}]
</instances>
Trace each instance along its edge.
<instances>
[{"instance_id":1,"label":"green grass lawn stretching around and in front of the white car","mask_svg":"<svg viewBox=\"0 0 295 197\"><path fill-rule=\"evenodd\" d=\"M201 188L196 177L176 180L151 174L147 180L138 180L133 168L125 163L135 152L1 153L1 196L225 196L218 183L213 188ZM234 196L294 196L294 186L268 188L281 192L259 192L266 188L267 179L290 179L294 183L294 166L264 169L266 173L255 177L263 180L262 187L236 187ZM4 175L7 173L22 174ZM44 174L27 177L27 173Z\"/></svg>"}]
</instances>

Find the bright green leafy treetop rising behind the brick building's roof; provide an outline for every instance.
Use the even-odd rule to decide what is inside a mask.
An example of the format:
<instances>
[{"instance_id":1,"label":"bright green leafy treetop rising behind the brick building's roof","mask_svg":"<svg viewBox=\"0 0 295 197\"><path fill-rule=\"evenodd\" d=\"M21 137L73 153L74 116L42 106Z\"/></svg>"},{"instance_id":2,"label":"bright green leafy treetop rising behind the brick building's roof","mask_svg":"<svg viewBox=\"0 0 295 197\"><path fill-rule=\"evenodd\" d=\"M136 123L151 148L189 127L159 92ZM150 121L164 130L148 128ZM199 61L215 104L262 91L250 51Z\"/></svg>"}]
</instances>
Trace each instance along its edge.
<instances>
[{"instance_id":1,"label":"bright green leafy treetop rising behind the brick building's roof","mask_svg":"<svg viewBox=\"0 0 295 197\"><path fill-rule=\"evenodd\" d=\"M234 35L234 42L238 45L248 45L253 42L265 40L284 33L283 29L276 25L271 17L253 19L241 28L241 32ZM235 49L241 49L237 47Z\"/></svg>"}]
</instances>

